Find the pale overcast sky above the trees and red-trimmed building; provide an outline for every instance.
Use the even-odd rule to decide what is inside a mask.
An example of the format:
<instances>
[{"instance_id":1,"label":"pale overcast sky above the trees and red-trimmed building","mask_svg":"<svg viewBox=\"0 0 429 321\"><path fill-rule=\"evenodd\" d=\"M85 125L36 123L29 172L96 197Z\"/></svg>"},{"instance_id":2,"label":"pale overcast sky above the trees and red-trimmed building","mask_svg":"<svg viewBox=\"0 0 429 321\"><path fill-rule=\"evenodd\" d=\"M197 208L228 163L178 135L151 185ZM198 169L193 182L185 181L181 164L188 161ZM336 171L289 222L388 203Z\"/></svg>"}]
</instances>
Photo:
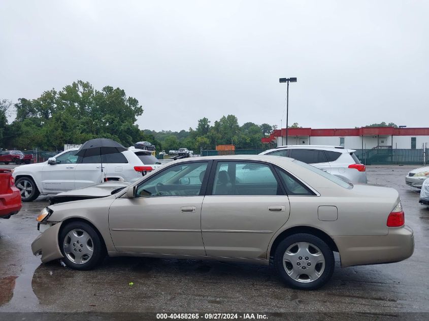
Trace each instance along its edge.
<instances>
[{"instance_id":1,"label":"pale overcast sky above the trees and red-trimmed building","mask_svg":"<svg viewBox=\"0 0 429 321\"><path fill-rule=\"evenodd\" d=\"M1 1L0 98L120 87L141 129L429 127L428 1ZM286 113L283 116L283 127Z\"/></svg>"}]
</instances>

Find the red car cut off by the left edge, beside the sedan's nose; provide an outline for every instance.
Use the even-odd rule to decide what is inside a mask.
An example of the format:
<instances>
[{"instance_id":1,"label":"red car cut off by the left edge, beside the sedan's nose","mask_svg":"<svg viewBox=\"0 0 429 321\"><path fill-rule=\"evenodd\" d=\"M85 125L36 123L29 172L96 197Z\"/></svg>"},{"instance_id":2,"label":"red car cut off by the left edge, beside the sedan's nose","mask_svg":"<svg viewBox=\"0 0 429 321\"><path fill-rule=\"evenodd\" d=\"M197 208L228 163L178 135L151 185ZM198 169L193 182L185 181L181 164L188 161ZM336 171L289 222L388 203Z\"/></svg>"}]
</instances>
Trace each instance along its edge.
<instances>
[{"instance_id":1,"label":"red car cut off by the left edge, beside the sedan's nose","mask_svg":"<svg viewBox=\"0 0 429 321\"><path fill-rule=\"evenodd\" d=\"M21 193L14 183L12 170L0 168L0 219L9 219L21 209Z\"/></svg>"}]
</instances>

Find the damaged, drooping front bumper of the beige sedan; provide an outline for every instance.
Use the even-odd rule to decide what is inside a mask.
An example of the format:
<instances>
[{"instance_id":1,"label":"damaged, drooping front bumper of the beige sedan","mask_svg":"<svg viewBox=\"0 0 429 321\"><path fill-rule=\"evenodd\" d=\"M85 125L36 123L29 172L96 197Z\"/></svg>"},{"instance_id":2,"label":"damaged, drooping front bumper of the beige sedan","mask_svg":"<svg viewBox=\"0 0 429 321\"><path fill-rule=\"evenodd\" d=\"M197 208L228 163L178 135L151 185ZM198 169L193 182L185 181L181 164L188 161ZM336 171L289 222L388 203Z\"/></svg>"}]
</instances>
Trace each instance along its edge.
<instances>
[{"instance_id":1,"label":"damaged, drooping front bumper of the beige sedan","mask_svg":"<svg viewBox=\"0 0 429 321\"><path fill-rule=\"evenodd\" d=\"M31 243L31 252L36 256L42 255L43 263L63 258L58 245L60 227L61 222L51 226Z\"/></svg>"}]
</instances>

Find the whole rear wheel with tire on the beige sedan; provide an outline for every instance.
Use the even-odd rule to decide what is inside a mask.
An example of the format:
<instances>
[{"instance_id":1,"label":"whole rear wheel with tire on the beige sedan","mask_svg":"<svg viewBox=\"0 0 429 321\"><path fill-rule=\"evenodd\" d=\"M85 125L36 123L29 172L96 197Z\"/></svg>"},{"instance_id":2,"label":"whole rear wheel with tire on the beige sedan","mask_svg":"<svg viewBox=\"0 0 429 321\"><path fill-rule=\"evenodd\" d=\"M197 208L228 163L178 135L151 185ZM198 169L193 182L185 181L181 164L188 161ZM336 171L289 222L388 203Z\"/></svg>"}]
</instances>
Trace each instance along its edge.
<instances>
[{"instance_id":1,"label":"whole rear wheel with tire on the beige sedan","mask_svg":"<svg viewBox=\"0 0 429 321\"><path fill-rule=\"evenodd\" d=\"M331 248L322 239L299 233L280 242L274 254L274 265L291 288L315 290L332 277L335 259Z\"/></svg>"}]
</instances>

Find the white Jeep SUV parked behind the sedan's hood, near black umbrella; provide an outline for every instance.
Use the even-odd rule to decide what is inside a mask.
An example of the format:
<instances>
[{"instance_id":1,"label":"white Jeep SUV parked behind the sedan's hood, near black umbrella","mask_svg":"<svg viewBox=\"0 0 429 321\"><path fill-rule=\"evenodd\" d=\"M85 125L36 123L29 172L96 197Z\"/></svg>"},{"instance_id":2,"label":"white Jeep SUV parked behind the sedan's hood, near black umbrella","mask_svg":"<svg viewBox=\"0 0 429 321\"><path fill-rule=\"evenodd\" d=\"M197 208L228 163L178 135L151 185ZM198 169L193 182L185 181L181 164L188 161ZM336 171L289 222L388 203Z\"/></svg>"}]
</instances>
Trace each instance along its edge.
<instances>
[{"instance_id":1,"label":"white Jeep SUV parked behind the sedan's hood, near black umbrella","mask_svg":"<svg viewBox=\"0 0 429 321\"><path fill-rule=\"evenodd\" d=\"M148 165L130 150L103 155L102 159L100 156L78 157L78 150L72 148L46 162L16 167L12 175L15 186L21 191L22 201L30 202L39 195L58 194L104 180L134 182L145 170L143 165Z\"/></svg>"}]
</instances>

